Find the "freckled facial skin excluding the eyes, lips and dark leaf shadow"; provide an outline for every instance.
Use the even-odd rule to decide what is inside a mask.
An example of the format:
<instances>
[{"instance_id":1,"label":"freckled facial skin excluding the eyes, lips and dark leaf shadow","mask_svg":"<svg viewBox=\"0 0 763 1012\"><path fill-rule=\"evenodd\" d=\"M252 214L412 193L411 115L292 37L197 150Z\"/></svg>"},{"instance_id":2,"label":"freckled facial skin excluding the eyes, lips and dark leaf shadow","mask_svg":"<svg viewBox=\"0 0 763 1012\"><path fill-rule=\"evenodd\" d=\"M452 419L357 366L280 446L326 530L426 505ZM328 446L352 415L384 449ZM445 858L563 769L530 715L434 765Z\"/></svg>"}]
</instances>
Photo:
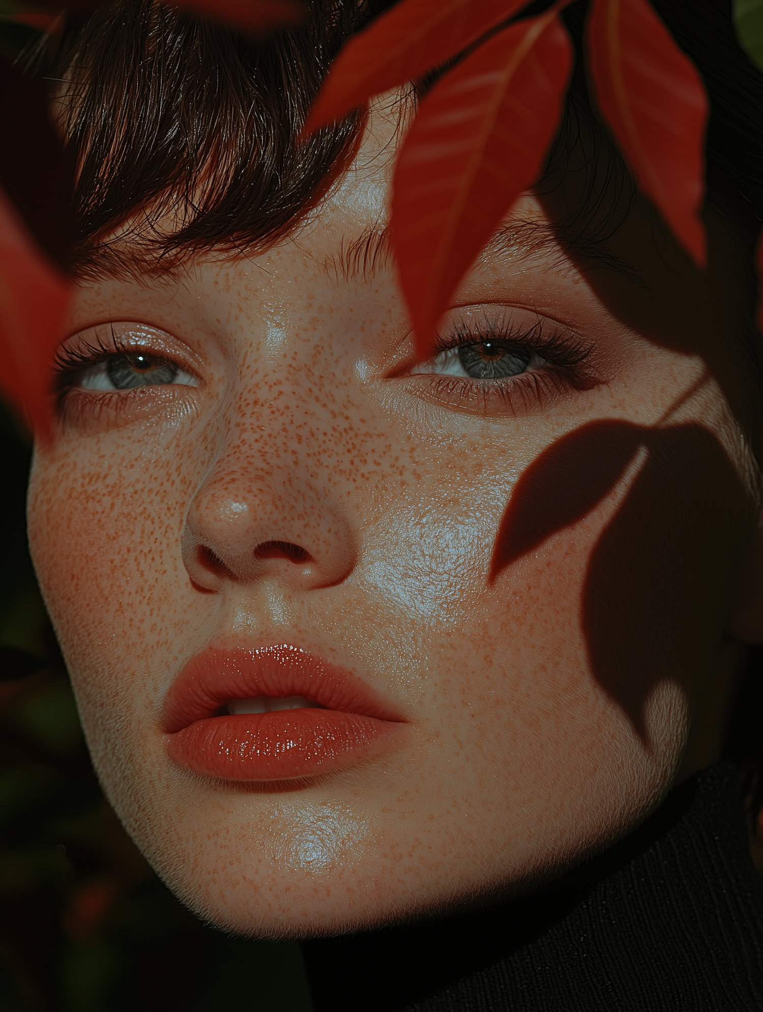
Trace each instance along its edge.
<instances>
[{"instance_id":1,"label":"freckled facial skin excluding the eyes, lips and dark leaf shadow","mask_svg":"<svg viewBox=\"0 0 763 1012\"><path fill-rule=\"evenodd\" d=\"M98 406L73 392L55 441L37 447L29 493L35 566L110 800L193 909L265 936L526 889L606 846L711 762L722 706L706 700L722 699L724 623L755 527L728 403L736 388L708 371L702 335L687 348L632 329L558 251L483 259L455 305L499 304L518 326L541 316L585 335L590 389L472 403L406 373L413 343L393 269L347 279L336 268L339 238L378 224L389 130L377 122L309 227L266 253L200 261L179 281L82 286L71 344L108 321L125 322L118 333L140 324L153 352L199 386ZM515 214L544 216L533 197ZM666 248L661 263L672 256L686 298L702 301L700 328L732 330L728 282L696 277ZM652 281L659 314L671 293ZM685 504L697 543L711 546L650 555L673 488L670 447L661 460L653 439L585 515L491 580L522 476L558 440L613 420L711 437L717 453L690 460L706 497ZM591 560L653 462L658 491L617 544L639 545L676 594L706 608L701 624L687 614L673 629L685 645L678 667L661 666L644 629L651 681L636 679L630 700L612 688L616 670L596 667L594 647L604 638L616 657L618 632L616 615L601 627L598 611L590 617ZM735 533L714 549L723 467L741 491L717 507ZM312 562L256 561L274 540ZM200 563L200 547L225 568ZM404 714L406 734L288 789L184 772L164 752L161 707L184 664L221 637L290 643L349 668Z\"/></svg>"}]
</instances>

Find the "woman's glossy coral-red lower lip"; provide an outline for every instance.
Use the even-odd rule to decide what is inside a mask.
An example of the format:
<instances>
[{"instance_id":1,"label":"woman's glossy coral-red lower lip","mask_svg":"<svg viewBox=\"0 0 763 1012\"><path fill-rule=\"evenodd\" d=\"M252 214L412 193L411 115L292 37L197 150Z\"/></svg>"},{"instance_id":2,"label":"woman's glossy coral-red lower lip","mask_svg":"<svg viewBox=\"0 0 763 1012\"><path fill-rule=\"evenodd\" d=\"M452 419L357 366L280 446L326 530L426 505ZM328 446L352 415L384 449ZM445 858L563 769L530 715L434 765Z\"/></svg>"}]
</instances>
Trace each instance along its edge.
<instances>
[{"instance_id":1,"label":"woman's glossy coral-red lower lip","mask_svg":"<svg viewBox=\"0 0 763 1012\"><path fill-rule=\"evenodd\" d=\"M355 766L383 751L399 724L304 707L197 721L167 735L178 765L224 780L291 780Z\"/></svg>"}]
</instances>

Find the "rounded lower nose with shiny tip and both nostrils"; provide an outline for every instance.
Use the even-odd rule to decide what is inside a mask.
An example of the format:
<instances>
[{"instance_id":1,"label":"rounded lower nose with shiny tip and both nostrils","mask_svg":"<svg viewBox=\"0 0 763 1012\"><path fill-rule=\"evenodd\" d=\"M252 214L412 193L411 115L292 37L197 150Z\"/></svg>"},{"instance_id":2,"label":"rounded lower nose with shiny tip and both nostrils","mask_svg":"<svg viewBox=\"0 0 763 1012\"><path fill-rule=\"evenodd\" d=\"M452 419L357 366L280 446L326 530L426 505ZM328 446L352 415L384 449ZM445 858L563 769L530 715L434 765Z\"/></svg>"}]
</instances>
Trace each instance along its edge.
<instances>
[{"instance_id":1,"label":"rounded lower nose with shiny tip and both nostrils","mask_svg":"<svg viewBox=\"0 0 763 1012\"><path fill-rule=\"evenodd\" d=\"M196 494L181 542L188 576L200 588L277 579L292 591L341 583L355 542L327 495L293 472L266 472L241 453L221 460Z\"/></svg>"}]
</instances>

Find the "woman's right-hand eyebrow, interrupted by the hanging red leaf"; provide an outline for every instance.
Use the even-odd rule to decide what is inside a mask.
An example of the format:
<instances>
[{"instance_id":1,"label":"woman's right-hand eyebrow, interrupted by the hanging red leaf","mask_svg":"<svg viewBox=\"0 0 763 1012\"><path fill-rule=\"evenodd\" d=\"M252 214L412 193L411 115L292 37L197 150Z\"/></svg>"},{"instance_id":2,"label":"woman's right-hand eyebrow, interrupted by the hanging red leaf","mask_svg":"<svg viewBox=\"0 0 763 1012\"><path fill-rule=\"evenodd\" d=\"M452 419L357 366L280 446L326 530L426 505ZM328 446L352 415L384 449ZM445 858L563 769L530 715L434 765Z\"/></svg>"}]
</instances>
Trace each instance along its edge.
<instances>
[{"instance_id":1,"label":"woman's right-hand eyebrow, interrupted by the hanging red leaf","mask_svg":"<svg viewBox=\"0 0 763 1012\"><path fill-rule=\"evenodd\" d=\"M586 269L615 271L624 279L643 284L633 264L607 248L607 239L585 231L556 229L544 222L515 219L499 228L480 250L475 265L492 258L511 255L518 262L533 255L553 254L553 266L569 264ZM371 281L376 274L394 261L391 230L369 227L355 239L342 236L334 253L326 256L324 269L338 283Z\"/></svg>"}]
</instances>

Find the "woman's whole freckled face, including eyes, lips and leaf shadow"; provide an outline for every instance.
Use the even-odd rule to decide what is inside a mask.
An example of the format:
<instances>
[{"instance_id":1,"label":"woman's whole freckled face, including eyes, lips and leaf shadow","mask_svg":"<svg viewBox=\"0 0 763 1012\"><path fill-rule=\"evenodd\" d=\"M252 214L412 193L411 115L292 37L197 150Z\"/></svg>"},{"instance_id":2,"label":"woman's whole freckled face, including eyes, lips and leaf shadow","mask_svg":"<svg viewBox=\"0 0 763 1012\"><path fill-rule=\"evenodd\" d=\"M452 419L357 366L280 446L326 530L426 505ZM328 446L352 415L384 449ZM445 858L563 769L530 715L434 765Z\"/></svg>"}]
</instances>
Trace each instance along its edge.
<instances>
[{"instance_id":1,"label":"woman's whole freckled face, including eyes, lips and leaf shadow","mask_svg":"<svg viewBox=\"0 0 763 1012\"><path fill-rule=\"evenodd\" d=\"M241 931L528 888L717 753L755 526L734 249L698 275L639 207L584 263L527 196L416 362L392 128L269 252L83 284L35 455L101 782Z\"/></svg>"}]
</instances>

